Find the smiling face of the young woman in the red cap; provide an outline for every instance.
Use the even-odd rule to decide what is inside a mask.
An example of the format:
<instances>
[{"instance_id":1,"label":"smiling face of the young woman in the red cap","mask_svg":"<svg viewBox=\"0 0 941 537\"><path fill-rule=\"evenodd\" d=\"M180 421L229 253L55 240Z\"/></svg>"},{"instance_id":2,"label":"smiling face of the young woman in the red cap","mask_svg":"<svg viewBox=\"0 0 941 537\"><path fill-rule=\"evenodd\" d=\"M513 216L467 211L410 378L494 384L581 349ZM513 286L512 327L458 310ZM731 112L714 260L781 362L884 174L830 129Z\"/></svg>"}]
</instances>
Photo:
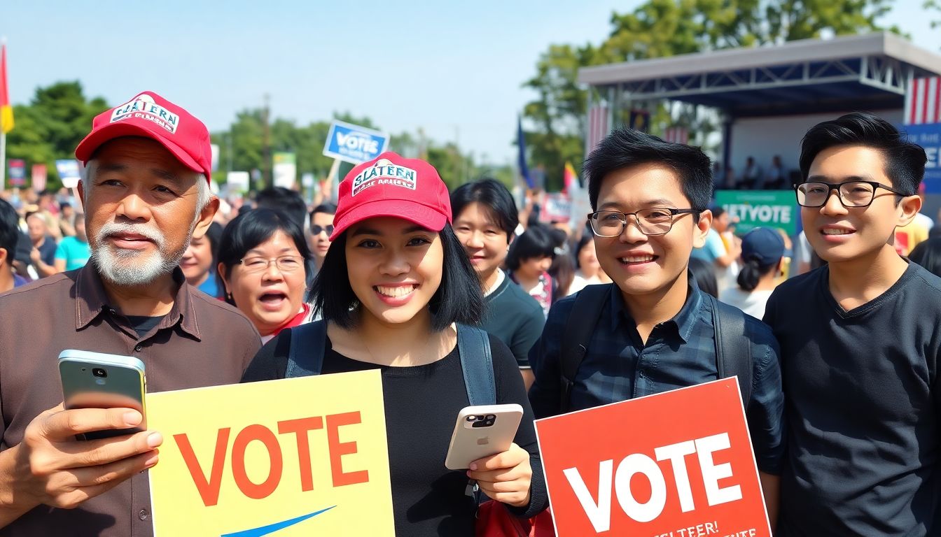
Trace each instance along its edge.
<instances>
[{"instance_id":1,"label":"smiling face of the young woman in the red cap","mask_svg":"<svg viewBox=\"0 0 941 537\"><path fill-rule=\"evenodd\" d=\"M381 324L430 320L444 249L437 231L401 218L369 218L346 230L346 267L360 316Z\"/></svg>"}]
</instances>

